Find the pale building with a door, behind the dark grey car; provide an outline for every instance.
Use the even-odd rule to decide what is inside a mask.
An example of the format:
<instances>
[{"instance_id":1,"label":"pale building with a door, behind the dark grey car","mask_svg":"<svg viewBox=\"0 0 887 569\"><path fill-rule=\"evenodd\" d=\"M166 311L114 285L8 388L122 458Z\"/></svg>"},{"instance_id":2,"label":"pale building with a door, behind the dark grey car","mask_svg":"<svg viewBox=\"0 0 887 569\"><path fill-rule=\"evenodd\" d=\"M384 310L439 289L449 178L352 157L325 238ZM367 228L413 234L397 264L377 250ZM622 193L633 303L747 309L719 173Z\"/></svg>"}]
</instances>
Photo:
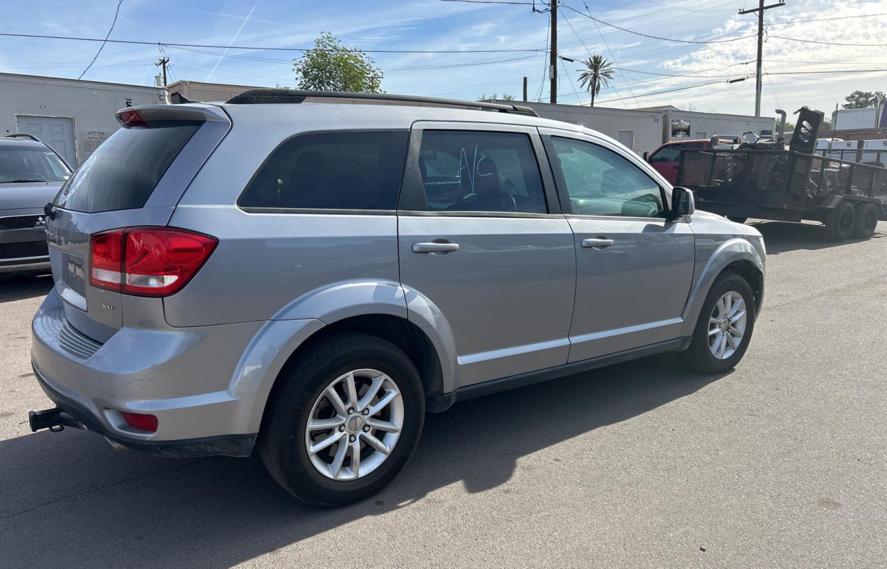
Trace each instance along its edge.
<instances>
[{"instance_id":1,"label":"pale building with a door, behind the dark grey car","mask_svg":"<svg viewBox=\"0 0 887 569\"><path fill-rule=\"evenodd\" d=\"M117 111L165 103L162 87L0 73L0 136L34 135L76 168L119 128Z\"/></svg>"}]
</instances>

